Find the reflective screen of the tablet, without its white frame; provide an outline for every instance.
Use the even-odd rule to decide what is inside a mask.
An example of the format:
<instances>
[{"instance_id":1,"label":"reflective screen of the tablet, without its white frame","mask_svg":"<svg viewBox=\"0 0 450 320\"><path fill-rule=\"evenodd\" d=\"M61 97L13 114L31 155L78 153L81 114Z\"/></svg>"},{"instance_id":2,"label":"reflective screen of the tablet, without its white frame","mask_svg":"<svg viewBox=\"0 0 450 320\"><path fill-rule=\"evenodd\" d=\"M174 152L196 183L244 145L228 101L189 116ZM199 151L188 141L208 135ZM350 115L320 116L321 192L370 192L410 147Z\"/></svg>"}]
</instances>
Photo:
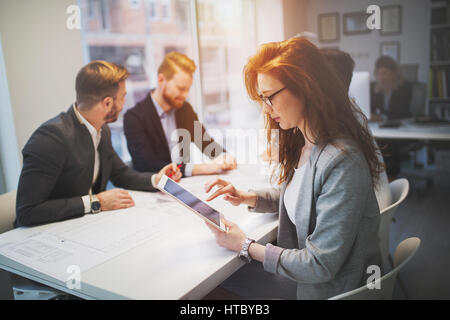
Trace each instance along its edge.
<instances>
[{"instance_id":1,"label":"reflective screen of the tablet, without its white frame","mask_svg":"<svg viewBox=\"0 0 450 320\"><path fill-rule=\"evenodd\" d=\"M189 207L200 213L202 216L208 218L216 225L220 226L220 213L208 206L206 203L201 201L186 189L182 188L177 183L173 182L170 179L167 179L167 182L164 185L164 190L177 197L179 200L184 202L184 204L188 205Z\"/></svg>"}]
</instances>

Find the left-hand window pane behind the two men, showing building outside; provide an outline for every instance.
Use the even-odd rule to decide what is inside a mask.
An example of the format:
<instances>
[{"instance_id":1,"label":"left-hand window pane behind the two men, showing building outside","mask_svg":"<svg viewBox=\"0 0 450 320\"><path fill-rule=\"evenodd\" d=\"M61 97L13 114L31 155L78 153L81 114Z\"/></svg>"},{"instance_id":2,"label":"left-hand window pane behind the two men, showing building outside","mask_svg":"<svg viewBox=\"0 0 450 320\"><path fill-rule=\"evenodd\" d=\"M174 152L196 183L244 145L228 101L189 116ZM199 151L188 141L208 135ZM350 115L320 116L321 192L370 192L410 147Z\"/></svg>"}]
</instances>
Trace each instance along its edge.
<instances>
[{"instance_id":1,"label":"left-hand window pane behind the two men, showing building outside","mask_svg":"<svg viewBox=\"0 0 450 320\"><path fill-rule=\"evenodd\" d=\"M170 19L164 24L149 19L156 16L157 1L146 0L145 5L136 8L139 2L116 0L107 7L100 6L103 4L100 0L79 0L82 19L87 21L82 29L86 63L108 60L130 71L124 111L110 124L113 146L124 161L129 161L130 156L123 135L123 114L156 86L156 69L167 48L193 56L189 0L173 1L174 14L168 15ZM108 30L99 28L96 23L101 17L99 12L102 17L108 17ZM189 101L195 105L195 94L191 94Z\"/></svg>"}]
</instances>

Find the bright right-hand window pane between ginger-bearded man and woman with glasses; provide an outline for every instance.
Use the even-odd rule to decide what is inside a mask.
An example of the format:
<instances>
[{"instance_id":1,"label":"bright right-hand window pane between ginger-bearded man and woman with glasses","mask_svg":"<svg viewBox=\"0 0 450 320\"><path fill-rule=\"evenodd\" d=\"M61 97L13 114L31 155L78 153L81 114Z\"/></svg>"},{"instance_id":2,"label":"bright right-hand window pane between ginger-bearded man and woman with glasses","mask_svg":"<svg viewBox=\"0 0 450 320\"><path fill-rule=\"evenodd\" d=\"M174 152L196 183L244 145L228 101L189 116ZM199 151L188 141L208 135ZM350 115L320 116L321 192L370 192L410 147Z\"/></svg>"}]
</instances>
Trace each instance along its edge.
<instances>
[{"instance_id":1,"label":"bright right-hand window pane between ginger-bearded man and woman with glasses","mask_svg":"<svg viewBox=\"0 0 450 320\"><path fill-rule=\"evenodd\" d=\"M206 127L245 128L258 111L248 106L242 70L256 48L254 1L199 0L198 25ZM245 108L242 106L245 105Z\"/></svg>"}]
</instances>

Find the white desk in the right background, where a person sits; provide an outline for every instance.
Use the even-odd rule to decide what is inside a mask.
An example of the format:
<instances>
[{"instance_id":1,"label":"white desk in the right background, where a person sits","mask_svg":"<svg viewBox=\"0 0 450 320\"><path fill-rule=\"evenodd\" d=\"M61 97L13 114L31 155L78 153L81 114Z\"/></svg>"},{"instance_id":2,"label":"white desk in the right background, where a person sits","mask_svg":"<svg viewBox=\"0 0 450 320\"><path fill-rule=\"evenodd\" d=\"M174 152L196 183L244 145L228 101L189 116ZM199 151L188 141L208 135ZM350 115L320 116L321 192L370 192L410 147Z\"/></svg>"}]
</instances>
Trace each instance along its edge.
<instances>
[{"instance_id":1,"label":"white desk in the right background, where a person sits","mask_svg":"<svg viewBox=\"0 0 450 320\"><path fill-rule=\"evenodd\" d=\"M379 123L369 122L375 138L449 141L450 125L417 125L412 119L402 120L398 128L380 128Z\"/></svg>"}]
</instances>

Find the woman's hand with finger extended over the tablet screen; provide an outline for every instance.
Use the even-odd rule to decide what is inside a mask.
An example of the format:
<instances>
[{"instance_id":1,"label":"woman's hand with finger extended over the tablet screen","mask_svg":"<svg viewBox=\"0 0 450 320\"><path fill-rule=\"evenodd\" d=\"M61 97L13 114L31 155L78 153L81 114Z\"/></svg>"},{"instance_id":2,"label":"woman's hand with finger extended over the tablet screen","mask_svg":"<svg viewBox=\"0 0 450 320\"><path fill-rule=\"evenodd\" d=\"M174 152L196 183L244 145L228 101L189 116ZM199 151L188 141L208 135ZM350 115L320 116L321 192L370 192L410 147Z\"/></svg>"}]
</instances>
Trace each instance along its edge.
<instances>
[{"instance_id":1,"label":"woman's hand with finger extended over the tablet screen","mask_svg":"<svg viewBox=\"0 0 450 320\"><path fill-rule=\"evenodd\" d=\"M234 206L247 204L251 207L256 205L256 194L253 192L244 192L237 190L230 182L222 179L214 179L205 184L205 191L209 192L217 186L218 189L206 199L211 201L220 195L224 195L223 199L230 202Z\"/></svg>"}]
</instances>

